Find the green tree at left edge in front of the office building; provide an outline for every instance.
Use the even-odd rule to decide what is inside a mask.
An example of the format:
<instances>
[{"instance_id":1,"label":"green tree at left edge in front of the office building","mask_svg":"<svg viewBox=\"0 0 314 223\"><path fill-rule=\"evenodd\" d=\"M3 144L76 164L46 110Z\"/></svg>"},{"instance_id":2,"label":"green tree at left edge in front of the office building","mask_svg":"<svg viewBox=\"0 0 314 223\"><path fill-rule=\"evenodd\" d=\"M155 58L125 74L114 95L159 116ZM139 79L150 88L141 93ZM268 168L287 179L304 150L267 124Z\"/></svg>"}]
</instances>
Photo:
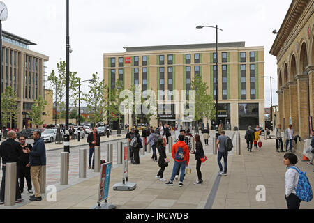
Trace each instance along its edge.
<instances>
[{"instance_id":1,"label":"green tree at left edge in front of the office building","mask_svg":"<svg viewBox=\"0 0 314 223\"><path fill-rule=\"evenodd\" d=\"M17 114L20 113L17 107L17 95L11 86L7 86L1 97L1 124L6 126L10 123L10 128L12 128L12 121L17 123Z\"/></svg>"}]
</instances>

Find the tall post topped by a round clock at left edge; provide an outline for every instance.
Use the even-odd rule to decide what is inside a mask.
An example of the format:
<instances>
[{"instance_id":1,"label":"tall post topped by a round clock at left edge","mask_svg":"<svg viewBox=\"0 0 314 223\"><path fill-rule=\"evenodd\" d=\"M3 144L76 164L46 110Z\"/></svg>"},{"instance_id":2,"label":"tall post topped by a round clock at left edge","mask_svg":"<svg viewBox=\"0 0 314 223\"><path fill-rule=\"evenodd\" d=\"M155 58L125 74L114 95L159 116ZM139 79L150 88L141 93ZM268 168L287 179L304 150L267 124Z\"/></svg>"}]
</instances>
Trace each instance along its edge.
<instances>
[{"instance_id":1,"label":"tall post topped by a round clock at left edge","mask_svg":"<svg viewBox=\"0 0 314 223\"><path fill-rule=\"evenodd\" d=\"M0 1L0 63L2 61L2 21L8 19L8 8L6 4ZM0 67L0 141L2 141L2 107L1 107L1 95L2 95L2 63Z\"/></svg>"}]
</instances>

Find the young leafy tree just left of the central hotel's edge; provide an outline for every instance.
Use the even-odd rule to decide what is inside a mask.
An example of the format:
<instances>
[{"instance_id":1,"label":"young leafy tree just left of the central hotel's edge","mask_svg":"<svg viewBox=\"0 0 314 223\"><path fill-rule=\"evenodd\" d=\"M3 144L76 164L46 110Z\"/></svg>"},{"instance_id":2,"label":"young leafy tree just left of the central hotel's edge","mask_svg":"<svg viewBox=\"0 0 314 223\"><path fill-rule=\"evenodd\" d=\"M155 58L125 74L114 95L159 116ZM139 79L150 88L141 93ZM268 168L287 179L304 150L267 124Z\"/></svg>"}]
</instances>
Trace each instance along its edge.
<instances>
[{"instance_id":1,"label":"young leafy tree just left of the central hotel's edge","mask_svg":"<svg viewBox=\"0 0 314 223\"><path fill-rule=\"evenodd\" d=\"M91 115L88 121L91 123L103 122L106 114L104 114L105 109L105 98L104 90L107 86L104 86L104 82L99 80L98 73L93 74L93 78L89 81L89 93L82 93L85 102L87 102L87 107L91 111Z\"/></svg>"}]
</instances>

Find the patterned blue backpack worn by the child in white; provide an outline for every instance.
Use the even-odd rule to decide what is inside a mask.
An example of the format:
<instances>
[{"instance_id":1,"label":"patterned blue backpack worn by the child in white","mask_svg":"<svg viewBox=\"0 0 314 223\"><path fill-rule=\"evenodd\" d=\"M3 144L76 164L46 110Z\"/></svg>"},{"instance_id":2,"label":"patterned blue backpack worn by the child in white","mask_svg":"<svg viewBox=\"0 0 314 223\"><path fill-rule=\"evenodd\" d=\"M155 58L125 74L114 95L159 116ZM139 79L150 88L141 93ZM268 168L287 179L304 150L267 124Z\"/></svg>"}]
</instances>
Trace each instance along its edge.
<instances>
[{"instance_id":1,"label":"patterned blue backpack worn by the child in white","mask_svg":"<svg viewBox=\"0 0 314 223\"><path fill-rule=\"evenodd\" d=\"M310 202L313 199L313 192L310 182L308 181L308 177L306 176L306 172L302 172L297 167L290 167L295 169L299 173L299 182L297 187L294 188L297 193L297 197L301 199L301 201Z\"/></svg>"}]
</instances>

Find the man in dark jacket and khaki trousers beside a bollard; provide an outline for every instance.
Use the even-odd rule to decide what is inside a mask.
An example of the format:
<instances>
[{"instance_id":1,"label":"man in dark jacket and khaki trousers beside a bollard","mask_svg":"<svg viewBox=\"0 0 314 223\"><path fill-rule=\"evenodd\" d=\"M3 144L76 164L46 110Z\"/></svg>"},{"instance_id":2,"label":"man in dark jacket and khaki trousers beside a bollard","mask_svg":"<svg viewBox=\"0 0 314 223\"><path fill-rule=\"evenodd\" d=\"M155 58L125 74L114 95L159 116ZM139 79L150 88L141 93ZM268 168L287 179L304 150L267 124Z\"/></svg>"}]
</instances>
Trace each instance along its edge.
<instances>
[{"instance_id":1,"label":"man in dark jacket and khaki trousers beside a bollard","mask_svg":"<svg viewBox=\"0 0 314 223\"><path fill-rule=\"evenodd\" d=\"M40 191L40 171L41 167L46 165L46 147L41 138L41 132L33 132L33 150L29 148L23 150L24 153L29 153L29 162L31 163L31 181L35 187L35 194L30 196L30 201L41 201Z\"/></svg>"}]
</instances>

